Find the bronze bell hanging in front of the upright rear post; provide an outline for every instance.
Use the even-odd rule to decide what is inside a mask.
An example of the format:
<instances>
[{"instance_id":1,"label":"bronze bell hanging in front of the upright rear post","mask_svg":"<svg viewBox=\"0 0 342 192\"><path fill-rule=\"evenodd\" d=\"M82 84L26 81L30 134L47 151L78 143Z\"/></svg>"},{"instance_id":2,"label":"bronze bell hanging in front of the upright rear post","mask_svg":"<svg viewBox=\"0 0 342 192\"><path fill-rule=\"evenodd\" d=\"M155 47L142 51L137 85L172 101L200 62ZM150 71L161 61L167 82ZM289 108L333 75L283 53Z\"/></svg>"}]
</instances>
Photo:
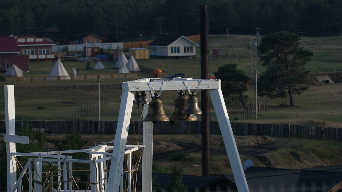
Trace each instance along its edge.
<instances>
[{"instance_id":1,"label":"bronze bell hanging in front of the upright rear post","mask_svg":"<svg viewBox=\"0 0 342 192\"><path fill-rule=\"evenodd\" d=\"M159 100L157 94L155 94L149 102L148 112L143 121L152 121L153 125L155 125L157 121L169 121L169 118L164 113L163 103Z\"/></svg>"}]
</instances>

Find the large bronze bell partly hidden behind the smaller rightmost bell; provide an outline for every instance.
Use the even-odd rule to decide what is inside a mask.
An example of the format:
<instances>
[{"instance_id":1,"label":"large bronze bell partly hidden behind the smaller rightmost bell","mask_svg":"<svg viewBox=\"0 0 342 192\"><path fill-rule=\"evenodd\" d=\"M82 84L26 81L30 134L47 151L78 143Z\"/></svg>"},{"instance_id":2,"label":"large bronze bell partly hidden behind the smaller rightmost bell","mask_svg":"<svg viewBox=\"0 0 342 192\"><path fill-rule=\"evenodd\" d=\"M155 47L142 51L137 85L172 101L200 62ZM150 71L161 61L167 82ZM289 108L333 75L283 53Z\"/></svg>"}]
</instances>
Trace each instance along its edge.
<instances>
[{"instance_id":1,"label":"large bronze bell partly hidden behind the smaller rightmost bell","mask_svg":"<svg viewBox=\"0 0 342 192\"><path fill-rule=\"evenodd\" d=\"M197 121L197 117L194 114L190 114L187 118L186 114L182 113L185 109L187 99L188 97L185 91L178 93L178 96L174 100L173 113L169 116L170 125L173 125L174 121Z\"/></svg>"}]
</instances>

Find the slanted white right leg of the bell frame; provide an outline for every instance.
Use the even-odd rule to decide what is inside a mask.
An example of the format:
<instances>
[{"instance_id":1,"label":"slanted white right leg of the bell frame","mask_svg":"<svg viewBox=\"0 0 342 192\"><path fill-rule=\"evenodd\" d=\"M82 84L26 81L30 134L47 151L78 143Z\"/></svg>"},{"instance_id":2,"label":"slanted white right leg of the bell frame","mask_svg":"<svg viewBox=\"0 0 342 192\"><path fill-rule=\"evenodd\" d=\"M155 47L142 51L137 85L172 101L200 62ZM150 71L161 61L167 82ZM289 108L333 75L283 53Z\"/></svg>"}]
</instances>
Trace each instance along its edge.
<instances>
[{"instance_id":1,"label":"slanted white right leg of the bell frame","mask_svg":"<svg viewBox=\"0 0 342 192\"><path fill-rule=\"evenodd\" d=\"M226 105L221 89L210 90L210 96L220 125L224 145L228 154L229 163L239 192L249 192L244 169L242 168L239 152L236 147L233 130L229 121Z\"/></svg>"}]
</instances>

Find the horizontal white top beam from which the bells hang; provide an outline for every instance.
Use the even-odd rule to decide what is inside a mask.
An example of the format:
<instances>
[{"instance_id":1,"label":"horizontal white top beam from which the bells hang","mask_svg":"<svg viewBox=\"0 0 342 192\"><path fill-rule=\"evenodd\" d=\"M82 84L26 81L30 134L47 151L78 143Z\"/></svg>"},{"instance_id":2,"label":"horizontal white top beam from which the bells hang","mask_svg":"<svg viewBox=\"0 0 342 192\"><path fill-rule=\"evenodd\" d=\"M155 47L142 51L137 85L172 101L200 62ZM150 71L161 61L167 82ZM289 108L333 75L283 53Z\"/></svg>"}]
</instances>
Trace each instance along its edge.
<instances>
[{"instance_id":1,"label":"horizontal white top beam from which the bells hang","mask_svg":"<svg viewBox=\"0 0 342 192\"><path fill-rule=\"evenodd\" d=\"M184 80L183 80L184 81ZM122 91L150 91L150 87L148 83L150 83L153 87L154 91L160 91L161 89L164 91L167 90L213 90L221 88L221 80L213 79L213 80L186 80L186 87L183 81L174 81L174 79L151 79L149 82L124 82L122 83ZM199 84L202 82L201 86ZM163 88L162 84L165 84Z\"/></svg>"}]
</instances>

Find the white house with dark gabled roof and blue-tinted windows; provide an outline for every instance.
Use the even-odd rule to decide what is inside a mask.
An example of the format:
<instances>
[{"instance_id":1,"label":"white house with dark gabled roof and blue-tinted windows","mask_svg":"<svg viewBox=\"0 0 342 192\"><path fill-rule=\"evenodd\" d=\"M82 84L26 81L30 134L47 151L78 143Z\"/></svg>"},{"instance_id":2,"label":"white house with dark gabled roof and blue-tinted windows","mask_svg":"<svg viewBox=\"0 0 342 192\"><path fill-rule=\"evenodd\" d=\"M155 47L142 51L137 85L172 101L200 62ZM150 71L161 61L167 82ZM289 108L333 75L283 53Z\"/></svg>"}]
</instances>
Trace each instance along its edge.
<instances>
[{"instance_id":1,"label":"white house with dark gabled roof and blue-tinted windows","mask_svg":"<svg viewBox=\"0 0 342 192\"><path fill-rule=\"evenodd\" d=\"M164 57L194 57L196 45L199 46L182 35L161 35L147 44L150 47L150 55Z\"/></svg>"}]
</instances>

